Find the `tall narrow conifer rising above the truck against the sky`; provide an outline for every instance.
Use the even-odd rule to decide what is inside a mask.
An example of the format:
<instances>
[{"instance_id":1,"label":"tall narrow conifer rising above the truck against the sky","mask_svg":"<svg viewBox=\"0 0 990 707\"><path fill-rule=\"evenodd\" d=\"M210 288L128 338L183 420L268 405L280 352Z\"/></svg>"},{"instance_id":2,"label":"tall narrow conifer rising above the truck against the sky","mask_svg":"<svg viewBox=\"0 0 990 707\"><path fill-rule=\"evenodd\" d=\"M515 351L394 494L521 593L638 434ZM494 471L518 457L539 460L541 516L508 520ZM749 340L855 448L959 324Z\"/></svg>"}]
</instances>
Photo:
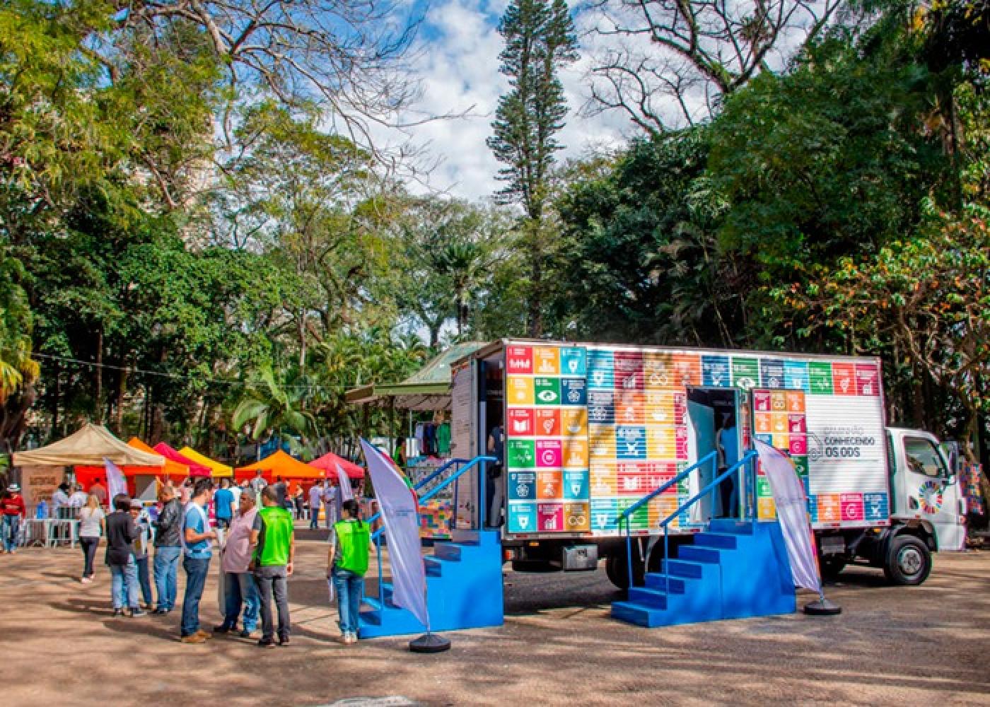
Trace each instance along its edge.
<instances>
[{"instance_id":1,"label":"tall narrow conifer rising above the truck against the sky","mask_svg":"<svg viewBox=\"0 0 990 707\"><path fill-rule=\"evenodd\" d=\"M554 152L562 146L555 135L567 114L559 69L577 59L574 24L564 0L516 0L499 24L505 49L501 73L509 77L509 93L499 99L488 147L506 166L498 178L503 203L519 203L526 214L524 243L530 262L529 334L543 334L545 204Z\"/></svg>"}]
</instances>

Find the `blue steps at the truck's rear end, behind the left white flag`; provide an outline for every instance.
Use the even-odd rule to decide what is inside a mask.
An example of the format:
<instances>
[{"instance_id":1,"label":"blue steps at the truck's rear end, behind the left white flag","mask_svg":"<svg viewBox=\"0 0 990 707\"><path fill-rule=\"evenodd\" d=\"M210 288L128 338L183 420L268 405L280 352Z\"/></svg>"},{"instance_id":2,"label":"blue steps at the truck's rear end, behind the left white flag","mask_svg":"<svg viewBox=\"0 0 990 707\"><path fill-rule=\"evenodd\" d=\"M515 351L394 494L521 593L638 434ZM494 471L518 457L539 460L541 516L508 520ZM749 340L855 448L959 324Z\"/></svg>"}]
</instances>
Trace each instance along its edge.
<instances>
[{"instance_id":1,"label":"blue steps at the truck's rear end, behind the left white flag","mask_svg":"<svg viewBox=\"0 0 990 707\"><path fill-rule=\"evenodd\" d=\"M427 608L433 631L456 631L501 626L502 544L498 531L452 531L451 542L436 543L424 557ZM391 601L392 586L384 585L384 606L378 597L365 597L358 635L421 634L426 631L406 609Z\"/></svg>"}]
</instances>

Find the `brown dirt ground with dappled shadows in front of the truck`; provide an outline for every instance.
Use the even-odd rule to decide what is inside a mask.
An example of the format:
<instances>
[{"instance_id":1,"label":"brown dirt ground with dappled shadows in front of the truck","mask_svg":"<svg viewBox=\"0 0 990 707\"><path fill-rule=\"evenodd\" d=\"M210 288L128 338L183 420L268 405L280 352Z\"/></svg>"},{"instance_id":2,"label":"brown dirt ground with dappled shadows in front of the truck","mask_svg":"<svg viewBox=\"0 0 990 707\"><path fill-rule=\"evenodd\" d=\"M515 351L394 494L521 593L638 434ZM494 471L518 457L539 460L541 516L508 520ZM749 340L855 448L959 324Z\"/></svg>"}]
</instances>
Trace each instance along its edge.
<instances>
[{"instance_id":1,"label":"brown dirt ground with dappled shadows in front of the truck","mask_svg":"<svg viewBox=\"0 0 990 707\"><path fill-rule=\"evenodd\" d=\"M0 702L990 705L990 553L937 555L920 587L847 569L828 588L839 617L666 629L611 620L619 594L601 570L507 571L505 626L447 634L450 652L420 656L408 638L336 643L325 546L311 538L289 584L292 645L273 651L239 638L182 645L178 612L113 618L106 567L79 584L78 550L0 555ZM220 621L211 570L206 628Z\"/></svg>"}]
</instances>

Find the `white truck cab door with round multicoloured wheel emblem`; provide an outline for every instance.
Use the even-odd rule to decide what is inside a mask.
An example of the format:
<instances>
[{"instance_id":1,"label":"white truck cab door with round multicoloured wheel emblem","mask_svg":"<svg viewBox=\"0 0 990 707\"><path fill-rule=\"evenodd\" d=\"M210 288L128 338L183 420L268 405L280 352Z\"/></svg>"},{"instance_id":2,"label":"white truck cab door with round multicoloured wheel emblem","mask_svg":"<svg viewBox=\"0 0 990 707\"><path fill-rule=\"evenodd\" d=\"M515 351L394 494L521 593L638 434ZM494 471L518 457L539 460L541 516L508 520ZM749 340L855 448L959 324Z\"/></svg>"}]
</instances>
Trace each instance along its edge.
<instances>
[{"instance_id":1,"label":"white truck cab door with round multicoloured wheel emblem","mask_svg":"<svg viewBox=\"0 0 990 707\"><path fill-rule=\"evenodd\" d=\"M907 433L901 438L909 514L921 514L935 527L939 550L960 550L965 526L960 522L958 483L949 484L950 472L935 442Z\"/></svg>"}]
</instances>

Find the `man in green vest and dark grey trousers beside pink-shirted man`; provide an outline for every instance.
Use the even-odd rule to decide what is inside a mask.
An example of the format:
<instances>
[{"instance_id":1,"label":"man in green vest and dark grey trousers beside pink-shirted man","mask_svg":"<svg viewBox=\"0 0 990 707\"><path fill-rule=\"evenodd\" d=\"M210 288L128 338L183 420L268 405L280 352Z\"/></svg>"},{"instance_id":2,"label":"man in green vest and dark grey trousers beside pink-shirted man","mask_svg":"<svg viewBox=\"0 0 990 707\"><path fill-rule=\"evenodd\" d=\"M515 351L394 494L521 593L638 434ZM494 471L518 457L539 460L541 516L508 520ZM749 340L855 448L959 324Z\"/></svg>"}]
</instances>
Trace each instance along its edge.
<instances>
[{"instance_id":1,"label":"man in green vest and dark grey trousers beside pink-shirted man","mask_svg":"<svg viewBox=\"0 0 990 707\"><path fill-rule=\"evenodd\" d=\"M271 599L274 595L278 611L278 645L289 644L289 596L287 578L292 575L296 553L292 532L292 515L278 505L278 494L271 486L261 491L262 508L251 527L251 570L261 599L261 648L273 648L274 622Z\"/></svg>"}]
</instances>

